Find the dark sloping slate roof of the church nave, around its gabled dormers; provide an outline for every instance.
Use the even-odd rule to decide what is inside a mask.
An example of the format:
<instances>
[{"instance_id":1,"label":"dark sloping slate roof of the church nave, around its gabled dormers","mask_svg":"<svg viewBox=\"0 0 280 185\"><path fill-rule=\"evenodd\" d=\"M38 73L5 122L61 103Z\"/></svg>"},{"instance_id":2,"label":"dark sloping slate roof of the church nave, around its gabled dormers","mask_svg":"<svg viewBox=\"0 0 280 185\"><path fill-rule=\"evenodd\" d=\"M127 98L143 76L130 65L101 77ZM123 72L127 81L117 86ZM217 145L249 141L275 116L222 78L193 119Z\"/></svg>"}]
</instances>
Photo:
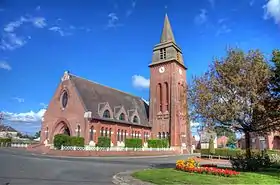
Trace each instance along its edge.
<instances>
[{"instance_id":1,"label":"dark sloping slate roof of the church nave, around its gabled dormers","mask_svg":"<svg viewBox=\"0 0 280 185\"><path fill-rule=\"evenodd\" d=\"M85 108L87 111L92 112L92 117L94 119L151 127L149 124L149 105L142 98L89 81L73 74L69 75L70 80L73 82L81 100L85 105ZM102 106L105 106L106 102L108 102L113 113L114 109L117 111L121 108L121 106L123 106L127 115L131 116L131 113L137 109L140 122L133 123L130 120L118 120L115 115L113 118L102 118L99 115L99 111Z\"/></svg>"}]
</instances>

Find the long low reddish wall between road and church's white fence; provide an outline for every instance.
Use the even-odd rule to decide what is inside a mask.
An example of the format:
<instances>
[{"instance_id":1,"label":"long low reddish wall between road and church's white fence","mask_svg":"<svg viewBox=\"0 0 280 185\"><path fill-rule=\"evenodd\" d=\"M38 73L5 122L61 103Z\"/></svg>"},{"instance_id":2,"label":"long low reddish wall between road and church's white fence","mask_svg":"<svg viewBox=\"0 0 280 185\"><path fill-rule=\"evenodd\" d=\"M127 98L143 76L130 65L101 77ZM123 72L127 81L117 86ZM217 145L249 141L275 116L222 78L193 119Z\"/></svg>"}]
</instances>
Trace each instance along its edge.
<instances>
[{"instance_id":1,"label":"long low reddish wall between road and church's white fence","mask_svg":"<svg viewBox=\"0 0 280 185\"><path fill-rule=\"evenodd\" d=\"M46 154L55 156L160 156L180 154L180 151L65 151L49 150Z\"/></svg>"}]
</instances>

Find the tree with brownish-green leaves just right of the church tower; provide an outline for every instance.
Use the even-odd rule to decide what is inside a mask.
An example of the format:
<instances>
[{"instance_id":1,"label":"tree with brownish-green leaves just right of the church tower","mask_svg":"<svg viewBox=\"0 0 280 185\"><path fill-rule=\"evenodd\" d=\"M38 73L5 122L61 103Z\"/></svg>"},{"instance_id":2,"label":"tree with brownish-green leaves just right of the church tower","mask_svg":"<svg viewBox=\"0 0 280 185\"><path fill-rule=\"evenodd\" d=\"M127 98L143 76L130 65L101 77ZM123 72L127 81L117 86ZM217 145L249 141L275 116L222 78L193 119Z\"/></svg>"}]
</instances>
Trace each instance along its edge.
<instances>
[{"instance_id":1,"label":"tree with brownish-green leaves just right of the church tower","mask_svg":"<svg viewBox=\"0 0 280 185\"><path fill-rule=\"evenodd\" d=\"M225 58L216 59L206 73L194 78L189 91L192 119L244 132L250 157L250 133L271 131L278 125L269 120L270 77L260 51L229 49Z\"/></svg>"}]
</instances>

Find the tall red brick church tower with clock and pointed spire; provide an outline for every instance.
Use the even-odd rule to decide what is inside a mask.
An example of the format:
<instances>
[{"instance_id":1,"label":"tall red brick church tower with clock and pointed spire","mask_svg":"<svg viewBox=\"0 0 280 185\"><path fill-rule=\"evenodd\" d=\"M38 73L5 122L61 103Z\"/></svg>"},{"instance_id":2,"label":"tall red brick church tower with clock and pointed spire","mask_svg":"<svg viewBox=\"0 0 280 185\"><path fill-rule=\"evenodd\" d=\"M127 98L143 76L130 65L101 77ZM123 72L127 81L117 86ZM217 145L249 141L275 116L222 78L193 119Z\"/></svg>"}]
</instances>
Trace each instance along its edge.
<instances>
[{"instance_id":1,"label":"tall red brick church tower with clock and pointed spire","mask_svg":"<svg viewBox=\"0 0 280 185\"><path fill-rule=\"evenodd\" d=\"M191 147L186 96L187 68L167 15L160 43L154 46L149 67L152 137L169 138L171 147Z\"/></svg>"}]
</instances>

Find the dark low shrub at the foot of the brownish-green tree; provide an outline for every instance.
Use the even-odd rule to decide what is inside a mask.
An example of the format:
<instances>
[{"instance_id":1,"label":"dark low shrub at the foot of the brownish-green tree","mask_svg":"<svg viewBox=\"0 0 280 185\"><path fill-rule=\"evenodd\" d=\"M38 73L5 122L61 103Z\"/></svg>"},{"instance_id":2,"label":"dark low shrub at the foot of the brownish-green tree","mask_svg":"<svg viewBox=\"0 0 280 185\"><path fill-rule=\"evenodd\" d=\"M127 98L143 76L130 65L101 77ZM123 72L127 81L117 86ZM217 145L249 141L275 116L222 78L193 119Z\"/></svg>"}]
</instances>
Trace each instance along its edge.
<instances>
[{"instance_id":1,"label":"dark low shrub at the foot of the brownish-green tree","mask_svg":"<svg viewBox=\"0 0 280 185\"><path fill-rule=\"evenodd\" d=\"M243 152L236 158L232 158L230 162L234 169L242 171L258 171L271 165L269 155L265 152L252 152L250 158Z\"/></svg>"}]
</instances>

